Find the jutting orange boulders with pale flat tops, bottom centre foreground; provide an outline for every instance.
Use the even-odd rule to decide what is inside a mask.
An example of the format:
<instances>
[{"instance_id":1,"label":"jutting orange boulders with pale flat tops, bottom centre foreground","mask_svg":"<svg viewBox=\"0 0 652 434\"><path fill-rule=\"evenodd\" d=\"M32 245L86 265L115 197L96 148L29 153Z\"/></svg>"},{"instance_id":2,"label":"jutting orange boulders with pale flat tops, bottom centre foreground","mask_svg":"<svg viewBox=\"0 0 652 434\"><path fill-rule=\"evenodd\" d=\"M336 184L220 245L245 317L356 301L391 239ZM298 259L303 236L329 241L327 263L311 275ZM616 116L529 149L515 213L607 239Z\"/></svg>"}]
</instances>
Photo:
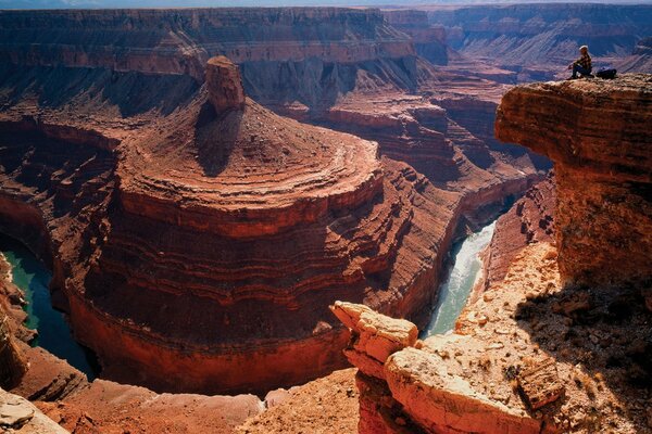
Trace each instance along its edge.
<instances>
[{"instance_id":1,"label":"jutting orange boulders with pale flat tops, bottom centre foreground","mask_svg":"<svg viewBox=\"0 0 652 434\"><path fill-rule=\"evenodd\" d=\"M462 336L417 343L410 321L350 303L331 309L351 330L344 354L359 368L360 433L542 432L540 421L490 399L442 357L451 344L477 343Z\"/></svg>"}]
</instances>

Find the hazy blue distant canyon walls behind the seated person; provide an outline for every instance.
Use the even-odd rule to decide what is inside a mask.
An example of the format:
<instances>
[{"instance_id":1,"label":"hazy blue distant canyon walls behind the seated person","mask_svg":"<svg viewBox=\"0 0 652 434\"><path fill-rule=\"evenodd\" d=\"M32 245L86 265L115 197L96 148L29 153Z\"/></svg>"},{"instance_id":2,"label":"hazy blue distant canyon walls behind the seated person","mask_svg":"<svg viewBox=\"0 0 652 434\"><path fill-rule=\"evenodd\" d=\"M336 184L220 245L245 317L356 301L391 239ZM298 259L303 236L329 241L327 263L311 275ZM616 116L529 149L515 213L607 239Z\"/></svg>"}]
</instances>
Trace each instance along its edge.
<instances>
[{"instance_id":1,"label":"hazy blue distant canyon walls behind the seated person","mask_svg":"<svg viewBox=\"0 0 652 434\"><path fill-rule=\"evenodd\" d=\"M648 4L509 4L425 7L463 55L518 73L519 81L564 74L589 46L593 66L628 56L652 34ZM649 72L636 69L637 72Z\"/></svg>"}]
</instances>

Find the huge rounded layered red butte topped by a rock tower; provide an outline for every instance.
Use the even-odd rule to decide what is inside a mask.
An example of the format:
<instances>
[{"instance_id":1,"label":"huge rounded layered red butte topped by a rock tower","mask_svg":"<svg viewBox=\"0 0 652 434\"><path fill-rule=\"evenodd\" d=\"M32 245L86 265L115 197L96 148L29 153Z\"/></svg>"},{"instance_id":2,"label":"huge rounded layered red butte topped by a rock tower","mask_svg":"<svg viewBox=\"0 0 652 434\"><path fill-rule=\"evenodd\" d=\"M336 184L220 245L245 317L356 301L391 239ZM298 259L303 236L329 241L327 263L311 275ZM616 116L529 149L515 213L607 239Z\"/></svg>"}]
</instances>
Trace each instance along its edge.
<instances>
[{"instance_id":1,"label":"huge rounded layered red butte topped by a rock tower","mask_svg":"<svg viewBox=\"0 0 652 434\"><path fill-rule=\"evenodd\" d=\"M427 319L460 196L372 142L239 105L224 68L141 126L4 114L2 197L29 217L3 228L51 252L58 303L109 378L264 392L343 366L336 298Z\"/></svg>"}]
</instances>

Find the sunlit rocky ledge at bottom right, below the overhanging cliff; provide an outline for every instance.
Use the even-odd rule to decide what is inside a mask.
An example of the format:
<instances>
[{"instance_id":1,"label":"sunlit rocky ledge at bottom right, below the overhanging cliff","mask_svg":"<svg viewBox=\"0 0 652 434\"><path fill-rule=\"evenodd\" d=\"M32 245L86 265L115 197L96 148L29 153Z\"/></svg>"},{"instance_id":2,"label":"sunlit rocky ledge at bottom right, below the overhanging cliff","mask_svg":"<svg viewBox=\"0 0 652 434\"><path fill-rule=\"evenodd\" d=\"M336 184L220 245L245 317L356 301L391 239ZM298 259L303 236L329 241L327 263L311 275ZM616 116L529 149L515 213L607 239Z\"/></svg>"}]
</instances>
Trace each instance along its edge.
<instances>
[{"instance_id":1,"label":"sunlit rocky ledge at bottom right, below the overhanging cliff","mask_svg":"<svg viewBox=\"0 0 652 434\"><path fill-rule=\"evenodd\" d=\"M413 346L403 344L414 324L338 303L353 324L359 432L650 433L651 329L639 297L565 289L554 245L532 242L469 299L453 333Z\"/></svg>"}]
</instances>

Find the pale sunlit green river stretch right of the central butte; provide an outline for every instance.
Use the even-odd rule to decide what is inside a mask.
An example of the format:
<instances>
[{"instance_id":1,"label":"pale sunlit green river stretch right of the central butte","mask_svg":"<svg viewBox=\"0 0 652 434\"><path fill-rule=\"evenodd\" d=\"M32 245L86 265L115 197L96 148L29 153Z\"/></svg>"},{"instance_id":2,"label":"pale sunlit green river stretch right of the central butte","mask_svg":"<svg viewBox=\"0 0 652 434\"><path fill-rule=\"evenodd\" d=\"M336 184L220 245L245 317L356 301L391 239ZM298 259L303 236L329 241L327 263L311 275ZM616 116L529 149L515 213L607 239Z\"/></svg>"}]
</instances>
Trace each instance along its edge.
<instances>
[{"instance_id":1,"label":"pale sunlit green river stretch right of the central butte","mask_svg":"<svg viewBox=\"0 0 652 434\"><path fill-rule=\"evenodd\" d=\"M491 242L494 228L496 221L484 227L479 232L472 233L453 247L453 268L439 288L437 306L430 323L422 333L423 337L453 330L468 294L480 277L482 263L479 254Z\"/></svg>"}]
</instances>

